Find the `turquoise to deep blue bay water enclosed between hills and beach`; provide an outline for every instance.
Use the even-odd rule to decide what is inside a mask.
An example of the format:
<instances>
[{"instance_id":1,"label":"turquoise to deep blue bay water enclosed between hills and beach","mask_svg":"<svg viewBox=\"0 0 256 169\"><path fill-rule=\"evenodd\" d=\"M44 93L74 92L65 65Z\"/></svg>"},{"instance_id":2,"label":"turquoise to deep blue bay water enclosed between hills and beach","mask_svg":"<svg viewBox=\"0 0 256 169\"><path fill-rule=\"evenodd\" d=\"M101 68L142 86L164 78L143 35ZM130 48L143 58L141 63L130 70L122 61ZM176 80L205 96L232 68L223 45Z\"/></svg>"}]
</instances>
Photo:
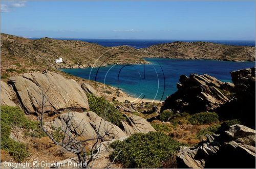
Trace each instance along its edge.
<instances>
[{"instance_id":1,"label":"turquoise to deep blue bay water enclosed between hills and beach","mask_svg":"<svg viewBox=\"0 0 256 169\"><path fill-rule=\"evenodd\" d=\"M115 86L132 96L164 100L177 91L182 74L209 74L230 81L230 71L251 68L255 62L226 62L212 60L145 59L148 65L109 65L86 69L60 69L78 77Z\"/></svg>"}]
</instances>

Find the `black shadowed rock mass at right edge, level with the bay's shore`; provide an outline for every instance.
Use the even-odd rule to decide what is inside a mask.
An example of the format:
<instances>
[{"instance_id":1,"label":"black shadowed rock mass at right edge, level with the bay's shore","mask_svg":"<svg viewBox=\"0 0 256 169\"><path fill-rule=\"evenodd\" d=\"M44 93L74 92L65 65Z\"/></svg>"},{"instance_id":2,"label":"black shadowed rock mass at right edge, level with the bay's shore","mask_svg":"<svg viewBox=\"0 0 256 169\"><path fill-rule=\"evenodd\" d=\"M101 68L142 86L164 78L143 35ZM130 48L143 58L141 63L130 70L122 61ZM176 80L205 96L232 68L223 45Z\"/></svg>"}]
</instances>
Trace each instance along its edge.
<instances>
[{"instance_id":1,"label":"black shadowed rock mass at right edge, level with the bay's shore","mask_svg":"<svg viewBox=\"0 0 256 169\"><path fill-rule=\"evenodd\" d=\"M255 129L255 68L230 72L240 121Z\"/></svg>"}]
</instances>

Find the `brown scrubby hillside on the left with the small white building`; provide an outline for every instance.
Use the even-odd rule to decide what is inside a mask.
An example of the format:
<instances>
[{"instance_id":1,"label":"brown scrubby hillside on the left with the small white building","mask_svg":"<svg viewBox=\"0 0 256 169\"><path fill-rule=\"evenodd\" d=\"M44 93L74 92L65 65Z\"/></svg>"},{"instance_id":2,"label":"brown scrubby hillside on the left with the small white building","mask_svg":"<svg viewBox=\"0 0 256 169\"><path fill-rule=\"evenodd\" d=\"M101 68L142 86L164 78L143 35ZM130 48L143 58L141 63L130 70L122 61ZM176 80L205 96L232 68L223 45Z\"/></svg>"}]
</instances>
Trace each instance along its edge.
<instances>
[{"instance_id":1,"label":"brown scrubby hillside on the left with the small white building","mask_svg":"<svg viewBox=\"0 0 256 169\"><path fill-rule=\"evenodd\" d=\"M144 52L127 46L103 47L76 40L55 40L48 37L31 40L1 34L1 57L23 58L52 68L86 68L106 64L146 63ZM62 58L63 63L55 64ZM29 63L30 63L29 62Z\"/></svg>"}]
</instances>

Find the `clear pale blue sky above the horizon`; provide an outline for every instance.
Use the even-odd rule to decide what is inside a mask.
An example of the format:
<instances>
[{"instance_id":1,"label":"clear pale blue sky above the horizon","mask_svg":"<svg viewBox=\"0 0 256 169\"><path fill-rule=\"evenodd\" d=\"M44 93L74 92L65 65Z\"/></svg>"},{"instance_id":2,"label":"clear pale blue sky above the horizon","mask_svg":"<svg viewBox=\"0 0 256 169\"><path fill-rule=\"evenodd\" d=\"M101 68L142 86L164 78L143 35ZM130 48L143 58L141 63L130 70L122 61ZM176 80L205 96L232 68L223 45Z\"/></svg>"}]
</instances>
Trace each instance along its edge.
<instances>
[{"instance_id":1,"label":"clear pale blue sky above the horizon","mask_svg":"<svg viewBox=\"0 0 256 169\"><path fill-rule=\"evenodd\" d=\"M1 32L24 37L254 40L254 1L1 1Z\"/></svg>"}]
</instances>

